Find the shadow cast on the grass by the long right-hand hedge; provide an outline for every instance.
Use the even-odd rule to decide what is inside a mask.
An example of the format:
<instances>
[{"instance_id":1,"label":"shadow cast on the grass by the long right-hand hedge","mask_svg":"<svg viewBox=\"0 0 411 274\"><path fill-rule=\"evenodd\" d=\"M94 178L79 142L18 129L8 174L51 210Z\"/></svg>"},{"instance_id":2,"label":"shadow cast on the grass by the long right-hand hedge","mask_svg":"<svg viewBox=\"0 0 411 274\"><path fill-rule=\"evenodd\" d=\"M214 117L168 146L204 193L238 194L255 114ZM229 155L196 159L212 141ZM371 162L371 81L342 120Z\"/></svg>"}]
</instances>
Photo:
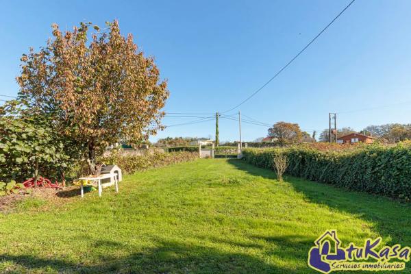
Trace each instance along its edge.
<instances>
[{"instance_id":1,"label":"shadow cast on the grass by the long right-hand hedge","mask_svg":"<svg viewBox=\"0 0 411 274\"><path fill-rule=\"evenodd\" d=\"M268 179L277 178L273 171L253 166L244 160L230 159L227 162L250 175ZM285 176L284 180L312 203L325 205L370 221L374 225L373 230L390 238L388 244L411 245L411 205L409 203L292 176Z\"/></svg>"}]
</instances>

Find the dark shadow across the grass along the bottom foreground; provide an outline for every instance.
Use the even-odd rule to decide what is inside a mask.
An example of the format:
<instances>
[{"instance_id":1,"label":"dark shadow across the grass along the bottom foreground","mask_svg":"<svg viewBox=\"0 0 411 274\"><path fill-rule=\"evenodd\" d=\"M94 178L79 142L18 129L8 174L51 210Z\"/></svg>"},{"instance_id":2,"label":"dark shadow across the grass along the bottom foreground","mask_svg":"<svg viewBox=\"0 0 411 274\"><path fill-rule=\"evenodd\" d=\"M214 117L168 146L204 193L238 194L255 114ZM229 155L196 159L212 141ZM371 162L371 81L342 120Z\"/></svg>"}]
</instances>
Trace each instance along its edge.
<instances>
[{"instance_id":1,"label":"dark shadow across the grass along the bottom foreground","mask_svg":"<svg viewBox=\"0 0 411 274\"><path fill-rule=\"evenodd\" d=\"M11 262L19 271L51 270L64 273L303 273L308 270L297 269L296 266L275 266L247 253L229 253L175 241L160 240L153 249L121 258L110 254L119 253L120 249L129 250L129 247L112 241L93 244L94 247L101 245L111 248L108 251L105 249L108 256L99 257L97 264L86 265L55 258L7 254L0 255L0 262ZM279 250L278 253L284 256L286 251ZM294 254L286 254L286 258L292 256Z\"/></svg>"}]
</instances>

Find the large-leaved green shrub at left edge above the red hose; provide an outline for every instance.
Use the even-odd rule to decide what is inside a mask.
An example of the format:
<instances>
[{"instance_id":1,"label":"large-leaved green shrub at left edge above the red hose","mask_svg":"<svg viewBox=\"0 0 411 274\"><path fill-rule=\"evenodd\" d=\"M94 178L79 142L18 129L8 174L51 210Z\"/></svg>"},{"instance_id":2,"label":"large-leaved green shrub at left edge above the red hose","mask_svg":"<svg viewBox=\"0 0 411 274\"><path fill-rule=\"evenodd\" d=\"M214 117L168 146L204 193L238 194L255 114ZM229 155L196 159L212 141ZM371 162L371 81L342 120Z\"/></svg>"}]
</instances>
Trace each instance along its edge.
<instances>
[{"instance_id":1,"label":"large-leaved green shrub at left edge above the red hose","mask_svg":"<svg viewBox=\"0 0 411 274\"><path fill-rule=\"evenodd\" d=\"M0 180L23 181L36 171L55 177L66 169L69 160L63 140L46 125L0 117Z\"/></svg>"}]
</instances>

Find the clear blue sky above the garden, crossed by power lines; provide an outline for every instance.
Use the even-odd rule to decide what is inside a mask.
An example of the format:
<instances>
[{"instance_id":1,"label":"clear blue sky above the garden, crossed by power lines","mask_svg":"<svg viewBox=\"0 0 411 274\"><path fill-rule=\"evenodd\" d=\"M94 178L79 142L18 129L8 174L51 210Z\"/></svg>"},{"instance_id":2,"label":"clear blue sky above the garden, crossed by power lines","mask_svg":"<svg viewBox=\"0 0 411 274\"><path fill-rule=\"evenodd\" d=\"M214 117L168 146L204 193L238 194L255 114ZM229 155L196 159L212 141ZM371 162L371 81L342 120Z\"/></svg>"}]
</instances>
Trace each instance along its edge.
<instances>
[{"instance_id":1,"label":"clear blue sky above the garden, crossed by power lines","mask_svg":"<svg viewBox=\"0 0 411 274\"><path fill-rule=\"evenodd\" d=\"M51 23L104 25L118 19L155 56L171 96L166 112L214 113L237 105L270 79L349 1L1 1L0 94L16 95L19 58L45 45ZM240 110L264 123L321 131L410 123L411 1L356 0L291 66ZM364 110L367 109L367 110ZM351 110L362 110L353 111ZM227 114L235 114L236 111ZM168 117L165 125L196 118ZM242 125L242 139L266 136ZM169 127L165 136L213 136L214 121ZM221 119L221 140L238 123Z\"/></svg>"}]
</instances>

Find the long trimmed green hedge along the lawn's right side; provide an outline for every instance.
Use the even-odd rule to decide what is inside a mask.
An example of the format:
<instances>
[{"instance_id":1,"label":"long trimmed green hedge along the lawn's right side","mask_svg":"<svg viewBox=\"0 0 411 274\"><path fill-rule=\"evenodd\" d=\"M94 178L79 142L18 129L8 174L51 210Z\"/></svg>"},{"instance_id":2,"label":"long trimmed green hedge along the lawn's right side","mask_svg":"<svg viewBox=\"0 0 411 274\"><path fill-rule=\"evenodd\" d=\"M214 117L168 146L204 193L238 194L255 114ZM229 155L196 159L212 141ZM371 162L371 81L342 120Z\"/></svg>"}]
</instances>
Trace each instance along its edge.
<instances>
[{"instance_id":1,"label":"long trimmed green hedge along the lawn's right side","mask_svg":"<svg viewBox=\"0 0 411 274\"><path fill-rule=\"evenodd\" d=\"M285 149L245 149L244 159L273 168L273 156L285 153L286 173L352 190L409 200L411 198L411 145L366 145L343 151L320 151L300 146Z\"/></svg>"}]
</instances>

